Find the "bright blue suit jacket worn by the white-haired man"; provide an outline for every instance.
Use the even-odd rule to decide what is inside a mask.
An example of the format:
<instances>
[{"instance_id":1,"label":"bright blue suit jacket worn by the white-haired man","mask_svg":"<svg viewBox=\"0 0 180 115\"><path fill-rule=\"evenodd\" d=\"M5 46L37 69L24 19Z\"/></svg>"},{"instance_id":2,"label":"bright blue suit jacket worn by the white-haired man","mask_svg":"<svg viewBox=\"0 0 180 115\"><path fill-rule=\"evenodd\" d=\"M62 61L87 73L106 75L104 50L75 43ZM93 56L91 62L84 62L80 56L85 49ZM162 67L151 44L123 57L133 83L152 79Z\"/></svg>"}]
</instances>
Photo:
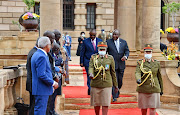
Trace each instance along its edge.
<instances>
[{"instance_id":1,"label":"bright blue suit jacket worn by the white-haired man","mask_svg":"<svg viewBox=\"0 0 180 115\"><path fill-rule=\"evenodd\" d=\"M52 95L53 77L48 56L37 50L31 59L32 95Z\"/></svg>"}]
</instances>

